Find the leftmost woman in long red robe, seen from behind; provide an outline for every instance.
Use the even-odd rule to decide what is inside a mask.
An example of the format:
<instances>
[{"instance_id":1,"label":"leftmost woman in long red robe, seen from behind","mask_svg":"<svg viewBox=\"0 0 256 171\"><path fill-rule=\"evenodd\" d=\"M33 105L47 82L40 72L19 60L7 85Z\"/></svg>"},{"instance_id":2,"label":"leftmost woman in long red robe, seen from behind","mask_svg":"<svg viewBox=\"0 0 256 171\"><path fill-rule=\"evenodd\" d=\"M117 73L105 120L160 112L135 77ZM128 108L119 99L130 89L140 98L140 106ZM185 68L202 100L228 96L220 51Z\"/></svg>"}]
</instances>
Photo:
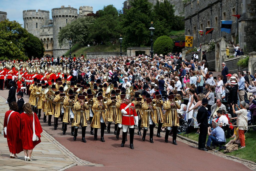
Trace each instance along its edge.
<instances>
[{"instance_id":1,"label":"leftmost woman in long red robe, seen from behind","mask_svg":"<svg viewBox=\"0 0 256 171\"><path fill-rule=\"evenodd\" d=\"M4 117L4 127L7 126L7 130L6 130L7 135L4 133L4 137L7 138L7 144L11 153L10 158L19 158L16 154L23 151L22 141L19 136L20 114L19 112L16 112L18 110L19 108L17 103L12 102L10 104L10 110L8 110L5 113L5 117ZM10 115L11 112L12 114ZM9 115L10 117L7 125L7 120Z\"/></svg>"}]
</instances>

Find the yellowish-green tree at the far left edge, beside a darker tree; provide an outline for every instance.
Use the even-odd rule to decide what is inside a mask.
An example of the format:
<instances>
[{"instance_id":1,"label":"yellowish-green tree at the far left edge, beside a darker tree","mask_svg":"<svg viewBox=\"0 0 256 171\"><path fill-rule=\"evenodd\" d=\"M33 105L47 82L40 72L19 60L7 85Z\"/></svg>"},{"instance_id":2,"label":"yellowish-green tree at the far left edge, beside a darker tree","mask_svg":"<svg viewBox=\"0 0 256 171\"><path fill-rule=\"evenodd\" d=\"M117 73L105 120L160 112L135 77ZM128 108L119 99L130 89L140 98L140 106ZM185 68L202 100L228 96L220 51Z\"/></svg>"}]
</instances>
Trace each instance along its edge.
<instances>
[{"instance_id":1,"label":"yellowish-green tree at the far left edge, beside a darker tree","mask_svg":"<svg viewBox=\"0 0 256 171\"><path fill-rule=\"evenodd\" d=\"M28 32L16 21L4 20L0 22L0 60L26 60L24 46L28 39Z\"/></svg>"}]
</instances>

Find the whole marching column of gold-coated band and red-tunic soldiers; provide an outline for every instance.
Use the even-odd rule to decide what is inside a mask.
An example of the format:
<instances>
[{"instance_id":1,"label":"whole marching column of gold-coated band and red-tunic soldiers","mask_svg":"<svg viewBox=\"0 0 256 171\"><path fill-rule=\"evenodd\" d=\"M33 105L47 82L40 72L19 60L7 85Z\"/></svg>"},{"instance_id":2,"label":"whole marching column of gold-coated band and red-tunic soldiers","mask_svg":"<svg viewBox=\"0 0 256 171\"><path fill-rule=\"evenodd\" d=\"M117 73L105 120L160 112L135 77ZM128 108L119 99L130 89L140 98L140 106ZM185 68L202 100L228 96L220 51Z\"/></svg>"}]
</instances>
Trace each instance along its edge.
<instances>
[{"instance_id":1,"label":"whole marching column of gold-coated band and red-tunic soldiers","mask_svg":"<svg viewBox=\"0 0 256 171\"><path fill-rule=\"evenodd\" d=\"M165 142L171 127L173 128L173 144L176 143L177 126L179 126L179 116L177 109L180 108L173 95L169 95L167 101L163 102L162 96L155 94L154 99L146 89L142 93L136 92L133 86L125 89L118 89L117 84L107 82L106 78L97 79L91 77L89 83L81 85L80 80L75 81L69 75L68 69L61 66L33 66L28 67L23 63L20 68L18 63L6 63L0 66L1 78L8 82L14 80L17 84L17 93L22 91L29 94L29 103L38 118L43 110L43 121L48 120L48 125L52 126L52 115L54 115L54 129L62 130L66 134L67 125L71 125L71 135L76 140L78 129L82 129L82 142L86 143L85 134L87 122L90 122L90 134L94 135L94 140L98 137L98 128L101 129L100 141L104 140L104 130L110 133L111 123L114 123L114 135L119 139L122 128L122 143L124 147L127 141L127 132L130 133L130 148L134 149L133 136L137 127L137 134L142 135L145 141L146 133L150 128L150 142L153 142L155 124L158 124L157 137L160 136L162 125L167 127ZM103 83L103 84L101 84ZM8 84L7 84L8 85ZM4 83L0 82L3 89ZM162 108L166 110L163 114ZM47 118L48 116L48 118ZM59 118L62 127L58 128ZM93 129L94 128L94 129ZM129 128L129 129L128 129ZM141 134L141 129L143 134Z\"/></svg>"}]
</instances>

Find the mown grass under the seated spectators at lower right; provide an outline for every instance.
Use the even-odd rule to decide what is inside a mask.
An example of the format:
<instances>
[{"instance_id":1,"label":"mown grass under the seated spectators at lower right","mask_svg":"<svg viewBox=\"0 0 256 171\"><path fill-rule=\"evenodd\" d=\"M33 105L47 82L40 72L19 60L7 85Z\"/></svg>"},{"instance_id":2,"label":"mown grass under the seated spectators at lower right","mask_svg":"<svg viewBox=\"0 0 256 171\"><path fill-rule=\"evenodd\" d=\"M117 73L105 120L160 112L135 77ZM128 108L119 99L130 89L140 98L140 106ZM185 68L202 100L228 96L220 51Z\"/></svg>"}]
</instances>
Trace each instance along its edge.
<instances>
[{"instance_id":1,"label":"mown grass under the seated spectators at lower right","mask_svg":"<svg viewBox=\"0 0 256 171\"><path fill-rule=\"evenodd\" d=\"M183 133L181 133L179 135L187 137L187 135L184 135ZM188 134L188 138L190 138L196 142L198 142L198 136L199 135L195 134L195 132ZM231 153L225 153L225 154L256 162L256 131L249 130L245 134L245 138L246 138L246 140L245 140L246 147L245 148L239 149L240 148L239 147L238 150L233 151ZM208 139L208 135L206 138L206 142L207 142L207 139ZM229 142L231 139L233 139L233 138L227 139L227 142ZM218 149L218 147L217 147L217 149ZM215 150L217 150L217 149L215 149ZM221 152L223 152L223 150L221 150Z\"/></svg>"}]
</instances>

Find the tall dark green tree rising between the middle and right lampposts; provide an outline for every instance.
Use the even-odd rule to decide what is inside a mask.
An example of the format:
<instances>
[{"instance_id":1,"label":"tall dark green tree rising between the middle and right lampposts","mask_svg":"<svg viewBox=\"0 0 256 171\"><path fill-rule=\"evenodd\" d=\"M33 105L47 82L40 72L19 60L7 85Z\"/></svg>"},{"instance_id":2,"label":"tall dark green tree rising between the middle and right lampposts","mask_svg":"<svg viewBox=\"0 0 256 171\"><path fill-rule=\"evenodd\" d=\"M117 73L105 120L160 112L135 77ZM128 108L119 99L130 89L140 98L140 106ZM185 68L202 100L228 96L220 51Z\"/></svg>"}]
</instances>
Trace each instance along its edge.
<instances>
[{"instance_id":1,"label":"tall dark green tree rising between the middle and right lampposts","mask_svg":"<svg viewBox=\"0 0 256 171\"><path fill-rule=\"evenodd\" d=\"M149 46L150 45L150 23L152 21L152 4L147 0L134 0L130 9L124 9L122 15L123 45Z\"/></svg>"}]
</instances>

